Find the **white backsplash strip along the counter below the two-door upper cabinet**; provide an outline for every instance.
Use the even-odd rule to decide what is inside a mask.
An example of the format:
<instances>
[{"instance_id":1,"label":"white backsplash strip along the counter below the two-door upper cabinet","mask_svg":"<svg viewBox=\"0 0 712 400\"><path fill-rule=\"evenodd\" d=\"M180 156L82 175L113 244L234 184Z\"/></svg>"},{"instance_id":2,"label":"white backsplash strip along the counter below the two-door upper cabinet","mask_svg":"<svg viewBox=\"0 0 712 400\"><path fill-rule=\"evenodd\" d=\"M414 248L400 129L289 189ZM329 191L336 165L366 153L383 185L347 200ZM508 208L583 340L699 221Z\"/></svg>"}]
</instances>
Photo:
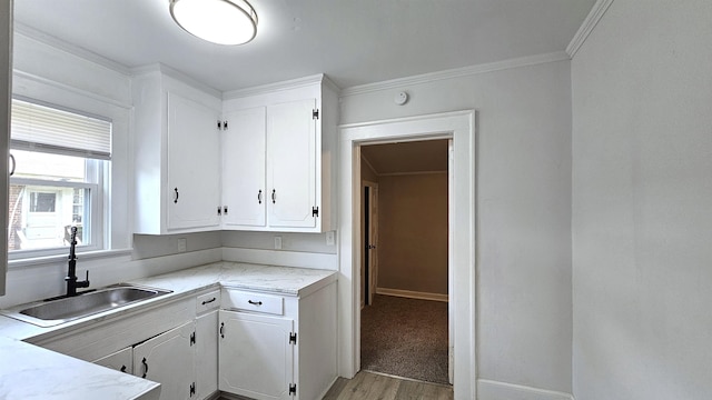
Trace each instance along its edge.
<instances>
[{"instance_id":1,"label":"white backsplash strip along the counter below the two-door upper cabinet","mask_svg":"<svg viewBox=\"0 0 712 400\"><path fill-rule=\"evenodd\" d=\"M338 270L336 254L300 251L222 248L222 261Z\"/></svg>"}]
</instances>

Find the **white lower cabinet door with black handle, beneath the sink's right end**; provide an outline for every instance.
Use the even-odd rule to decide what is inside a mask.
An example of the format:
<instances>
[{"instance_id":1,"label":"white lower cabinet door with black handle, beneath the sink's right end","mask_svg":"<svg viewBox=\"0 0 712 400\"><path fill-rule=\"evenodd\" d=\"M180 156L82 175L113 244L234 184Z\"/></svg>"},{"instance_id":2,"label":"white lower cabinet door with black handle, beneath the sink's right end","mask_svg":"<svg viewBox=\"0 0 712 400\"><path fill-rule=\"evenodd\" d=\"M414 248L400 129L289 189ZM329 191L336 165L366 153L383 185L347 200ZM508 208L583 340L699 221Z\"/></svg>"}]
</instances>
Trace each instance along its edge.
<instances>
[{"instance_id":1,"label":"white lower cabinet door with black handle, beneath the sink's right end","mask_svg":"<svg viewBox=\"0 0 712 400\"><path fill-rule=\"evenodd\" d=\"M160 400L190 399L195 388L195 322L134 347L134 374L161 384Z\"/></svg>"}]
</instances>

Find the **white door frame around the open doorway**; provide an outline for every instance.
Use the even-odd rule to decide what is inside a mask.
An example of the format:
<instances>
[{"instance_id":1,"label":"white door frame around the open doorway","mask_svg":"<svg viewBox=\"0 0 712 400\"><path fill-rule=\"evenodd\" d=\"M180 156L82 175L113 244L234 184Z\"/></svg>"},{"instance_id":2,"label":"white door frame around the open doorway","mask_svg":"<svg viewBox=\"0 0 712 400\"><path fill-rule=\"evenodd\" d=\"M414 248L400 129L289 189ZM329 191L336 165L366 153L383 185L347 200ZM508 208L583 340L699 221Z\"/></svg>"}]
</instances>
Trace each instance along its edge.
<instances>
[{"instance_id":1,"label":"white door frame around the open doorway","mask_svg":"<svg viewBox=\"0 0 712 400\"><path fill-rule=\"evenodd\" d=\"M475 111L468 110L339 127L339 376L353 378L360 369L360 146L452 139L452 258L448 269L454 310L454 398L476 398L475 117Z\"/></svg>"}]
</instances>

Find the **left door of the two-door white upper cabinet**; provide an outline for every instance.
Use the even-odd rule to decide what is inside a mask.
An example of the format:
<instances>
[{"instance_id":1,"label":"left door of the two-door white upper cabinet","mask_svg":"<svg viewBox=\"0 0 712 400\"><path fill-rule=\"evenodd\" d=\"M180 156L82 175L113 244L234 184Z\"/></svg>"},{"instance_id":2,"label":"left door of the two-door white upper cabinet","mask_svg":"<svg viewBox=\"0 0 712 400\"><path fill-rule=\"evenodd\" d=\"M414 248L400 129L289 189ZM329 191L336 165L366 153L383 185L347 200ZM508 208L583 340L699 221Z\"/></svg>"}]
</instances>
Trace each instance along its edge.
<instances>
[{"instance_id":1,"label":"left door of the two-door white upper cabinet","mask_svg":"<svg viewBox=\"0 0 712 400\"><path fill-rule=\"evenodd\" d=\"M222 217L226 228L264 227L266 109L258 107L225 116L222 132Z\"/></svg>"}]
</instances>

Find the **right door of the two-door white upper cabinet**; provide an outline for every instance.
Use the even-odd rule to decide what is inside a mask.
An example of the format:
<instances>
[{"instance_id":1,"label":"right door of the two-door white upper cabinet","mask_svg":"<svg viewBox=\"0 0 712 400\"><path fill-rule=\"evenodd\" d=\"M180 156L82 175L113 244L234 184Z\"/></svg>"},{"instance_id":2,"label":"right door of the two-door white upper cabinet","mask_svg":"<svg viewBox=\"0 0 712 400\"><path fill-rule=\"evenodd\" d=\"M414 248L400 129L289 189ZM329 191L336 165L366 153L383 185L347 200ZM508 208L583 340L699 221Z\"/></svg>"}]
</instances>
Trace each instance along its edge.
<instances>
[{"instance_id":1,"label":"right door of the two-door white upper cabinet","mask_svg":"<svg viewBox=\"0 0 712 400\"><path fill-rule=\"evenodd\" d=\"M316 100L267 109L267 190L270 227L314 228L316 218Z\"/></svg>"}]
</instances>

